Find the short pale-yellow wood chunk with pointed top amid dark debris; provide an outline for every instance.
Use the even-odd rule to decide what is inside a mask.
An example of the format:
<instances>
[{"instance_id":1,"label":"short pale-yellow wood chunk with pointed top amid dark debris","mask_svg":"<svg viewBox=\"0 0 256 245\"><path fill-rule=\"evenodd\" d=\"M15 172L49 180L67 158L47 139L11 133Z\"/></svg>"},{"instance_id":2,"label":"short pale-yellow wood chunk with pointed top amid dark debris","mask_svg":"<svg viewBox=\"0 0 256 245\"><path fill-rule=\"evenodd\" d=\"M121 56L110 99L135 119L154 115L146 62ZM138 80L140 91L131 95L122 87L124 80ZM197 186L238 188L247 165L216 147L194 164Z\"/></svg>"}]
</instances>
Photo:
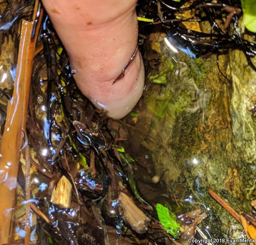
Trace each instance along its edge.
<instances>
[{"instance_id":1,"label":"short pale-yellow wood chunk with pointed top amid dark debris","mask_svg":"<svg viewBox=\"0 0 256 245\"><path fill-rule=\"evenodd\" d=\"M52 191L52 203L59 205L61 208L71 207L72 184L63 175L58 184Z\"/></svg>"}]
</instances>

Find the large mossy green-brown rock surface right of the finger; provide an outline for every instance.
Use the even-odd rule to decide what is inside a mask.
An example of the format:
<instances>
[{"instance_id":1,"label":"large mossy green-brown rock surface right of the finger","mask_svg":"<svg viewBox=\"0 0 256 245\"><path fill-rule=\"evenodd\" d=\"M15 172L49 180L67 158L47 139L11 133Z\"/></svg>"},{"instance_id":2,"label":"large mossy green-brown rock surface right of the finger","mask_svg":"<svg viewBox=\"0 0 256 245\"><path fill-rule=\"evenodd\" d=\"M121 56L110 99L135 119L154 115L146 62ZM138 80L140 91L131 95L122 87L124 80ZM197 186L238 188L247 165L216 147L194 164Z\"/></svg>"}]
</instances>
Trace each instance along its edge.
<instances>
[{"instance_id":1,"label":"large mossy green-brown rock surface right of the finger","mask_svg":"<svg viewBox=\"0 0 256 245\"><path fill-rule=\"evenodd\" d=\"M238 212L251 210L256 194L256 73L237 50L219 57L220 70L231 82L220 73L215 55L194 59L162 45L163 53L173 68L166 73L166 84L149 85L144 94L137 126L141 118L152 120L151 138L142 137L142 145L151 152L157 175L169 170L163 178L182 211L201 208L209 217L202 230L216 238L238 238L243 229L208 190Z\"/></svg>"}]
</instances>

